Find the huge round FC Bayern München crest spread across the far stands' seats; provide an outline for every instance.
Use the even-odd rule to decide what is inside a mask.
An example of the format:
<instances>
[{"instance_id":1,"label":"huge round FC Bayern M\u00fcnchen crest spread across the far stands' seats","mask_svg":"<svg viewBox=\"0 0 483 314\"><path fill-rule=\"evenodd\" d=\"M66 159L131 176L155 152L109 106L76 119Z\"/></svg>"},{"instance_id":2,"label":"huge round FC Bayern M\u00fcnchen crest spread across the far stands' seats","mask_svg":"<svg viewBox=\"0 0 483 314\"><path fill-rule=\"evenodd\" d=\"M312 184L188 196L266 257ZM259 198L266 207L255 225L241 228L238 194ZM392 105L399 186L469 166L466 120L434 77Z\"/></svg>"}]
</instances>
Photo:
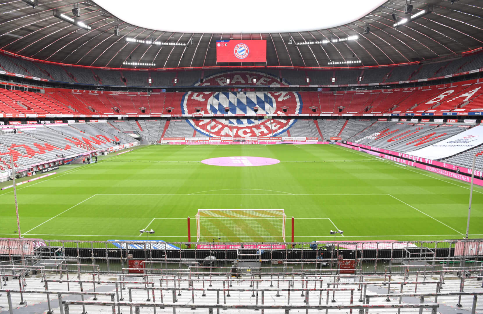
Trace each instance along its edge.
<instances>
[{"instance_id":1,"label":"huge round FC Bayern M\u00fcnchen crest spread across the far stands' seats","mask_svg":"<svg viewBox=\"0 0 483 314\"><path fill-rule=\"evenodd\" d=\"M262 86L278 82L276 77L265 73L227 72L206 77L203 83L197 85L220 86L224 82L226 85L227 78L233 85L247 84L254 78ZM187 92L181 108L183 114L199 116L187 121L201 134L264 137L281 135L290 128L297 119L283 116L300 114L302 100L298 92ZM210 117L204 118L204 115Z\"/></svg>"}]
</instances>

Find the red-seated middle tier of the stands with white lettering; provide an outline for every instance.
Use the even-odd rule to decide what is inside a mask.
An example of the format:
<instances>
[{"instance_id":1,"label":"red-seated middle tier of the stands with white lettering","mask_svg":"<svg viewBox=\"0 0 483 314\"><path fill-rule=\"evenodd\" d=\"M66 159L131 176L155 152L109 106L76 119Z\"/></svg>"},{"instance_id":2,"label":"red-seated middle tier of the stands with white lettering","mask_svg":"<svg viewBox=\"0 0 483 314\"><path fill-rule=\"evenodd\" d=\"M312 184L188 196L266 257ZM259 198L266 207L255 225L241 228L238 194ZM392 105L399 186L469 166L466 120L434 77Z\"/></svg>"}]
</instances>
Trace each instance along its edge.
<instances>
[{"instance_id":1,"label":"red-seated middle tier of the stands with white lettering","mask_svg":"<svg viewBox=\"0 0 483 314\"><path fill-rule=\"evenodd\" d=\"M337 92L146 93L48 88L45 93L36 93L0 89L0 114L5 117L461 114L483 111L482 87L482 82L472 80Z\"/></svg>"}]
</instances>

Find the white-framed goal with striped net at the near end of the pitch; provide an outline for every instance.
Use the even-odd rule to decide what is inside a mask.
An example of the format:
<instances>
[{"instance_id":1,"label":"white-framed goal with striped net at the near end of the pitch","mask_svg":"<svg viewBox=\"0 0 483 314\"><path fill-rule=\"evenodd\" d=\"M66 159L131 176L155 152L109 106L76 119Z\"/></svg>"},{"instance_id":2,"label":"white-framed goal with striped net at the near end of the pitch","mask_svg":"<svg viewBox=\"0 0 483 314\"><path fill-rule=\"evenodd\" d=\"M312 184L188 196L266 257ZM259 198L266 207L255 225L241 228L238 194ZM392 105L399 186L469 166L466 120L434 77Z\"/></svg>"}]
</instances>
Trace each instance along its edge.
<instances>
[{"instance_id":1,"label":"white-framed goal with striped net at the near end of the pitch","mask_svg":"<svg viewBox=\"0 0 483 314\"><path fill-rule=\"evenodd\" d=\"M285 242L283 209L199 209L198 242Z\"/></svg>"}]
</instances>

